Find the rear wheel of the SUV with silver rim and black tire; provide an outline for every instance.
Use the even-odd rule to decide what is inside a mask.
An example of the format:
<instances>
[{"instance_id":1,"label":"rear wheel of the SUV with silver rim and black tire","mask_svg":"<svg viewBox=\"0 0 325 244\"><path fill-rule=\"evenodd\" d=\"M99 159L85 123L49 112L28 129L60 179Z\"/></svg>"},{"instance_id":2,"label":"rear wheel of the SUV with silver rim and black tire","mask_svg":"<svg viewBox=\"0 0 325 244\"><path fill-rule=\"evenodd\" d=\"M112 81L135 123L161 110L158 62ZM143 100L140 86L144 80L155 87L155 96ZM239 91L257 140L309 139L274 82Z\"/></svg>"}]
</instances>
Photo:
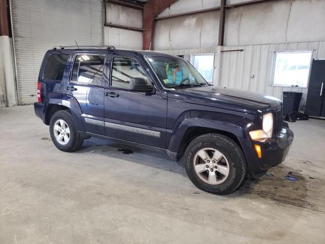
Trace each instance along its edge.
<instances>
[{"instance_id":1,"label":"rear wheel of the SUV with silver rim and black tire","mask_svg":"<svg viewBox=\"0 0 325 244\"><path fill-rule=\"evenodd\" d=\"M58 129L59 127L60 129ZM62 128L64 128L64 136L61 134L63 131ZM60 130L60 132L56 129ZM80 149L84 141L77 131L72 114L68 110L59 110L52 115L50 120L50 135L54 145L61 151L76 151Z\"/></svg>"}]
</instances>

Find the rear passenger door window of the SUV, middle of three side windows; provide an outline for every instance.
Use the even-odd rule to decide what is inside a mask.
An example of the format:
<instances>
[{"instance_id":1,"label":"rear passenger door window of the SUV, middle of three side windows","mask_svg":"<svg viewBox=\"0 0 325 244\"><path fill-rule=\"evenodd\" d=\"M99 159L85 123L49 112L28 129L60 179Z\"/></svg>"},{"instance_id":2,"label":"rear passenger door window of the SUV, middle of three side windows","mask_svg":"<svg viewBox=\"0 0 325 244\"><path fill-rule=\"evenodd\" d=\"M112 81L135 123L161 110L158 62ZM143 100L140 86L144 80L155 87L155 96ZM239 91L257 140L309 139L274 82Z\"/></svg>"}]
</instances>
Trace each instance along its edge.
<instances>
[{"instance_id":1,"label":"rear passenger door window of the SUV, middle of three side windows","mask_svg":"<svg viewBox=\"0 0 325 244\"><path fill-rule=\"evenodd\" d=\"M73 64L71 81L86 84L102 84L105 56L77 55Z\"/></svg>"}]
</instances>

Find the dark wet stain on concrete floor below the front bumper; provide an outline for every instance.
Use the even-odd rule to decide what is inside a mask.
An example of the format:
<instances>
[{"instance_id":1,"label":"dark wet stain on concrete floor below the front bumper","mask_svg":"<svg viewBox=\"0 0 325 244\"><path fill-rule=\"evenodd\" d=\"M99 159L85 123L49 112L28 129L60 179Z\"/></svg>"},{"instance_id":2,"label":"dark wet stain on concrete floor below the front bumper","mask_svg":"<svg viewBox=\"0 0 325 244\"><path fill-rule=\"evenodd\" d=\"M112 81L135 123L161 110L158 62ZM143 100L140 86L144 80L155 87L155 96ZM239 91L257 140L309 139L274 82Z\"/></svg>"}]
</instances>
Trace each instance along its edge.
<instances>
[{"instance_id":1,"label":"dark wet stain on concrete floor below the front bumper","mask_svg":"<svg viewBox=\"0 0 325 244\"><path fill-rule=\"evenodd\" d=\"M302 162L303 163L303 162ZM254 195L274 201L325 213L323 202L325 181L315 179L305 170L293 169L285 165L271 168L271 175L263 175L253 181L247 180L238 190L239 195ZM297 181L286 178L289 172ZM237 195L236 194L236 195Z\"/></svg>"}]
</instances>

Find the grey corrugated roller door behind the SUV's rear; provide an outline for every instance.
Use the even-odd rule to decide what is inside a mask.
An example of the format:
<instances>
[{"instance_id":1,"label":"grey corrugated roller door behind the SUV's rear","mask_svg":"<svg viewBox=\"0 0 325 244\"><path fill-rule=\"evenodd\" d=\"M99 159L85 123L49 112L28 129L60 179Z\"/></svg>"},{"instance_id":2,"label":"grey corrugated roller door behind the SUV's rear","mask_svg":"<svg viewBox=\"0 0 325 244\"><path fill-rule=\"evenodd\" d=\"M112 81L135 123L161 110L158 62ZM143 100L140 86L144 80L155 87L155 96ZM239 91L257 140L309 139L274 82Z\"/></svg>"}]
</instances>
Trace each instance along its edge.
<instances>
[{"instance_id":1,"label":"grey corrugated roller door behind the SUV's rear","mask_svg":"<svg viewBox=\"0 0 325 244\"><path fill-rule=\"evenodd\" d=\"M20 104L37 101L46 50L60 45L103 45L101 0L12 1Z\"/></svg>"}]
</instances>

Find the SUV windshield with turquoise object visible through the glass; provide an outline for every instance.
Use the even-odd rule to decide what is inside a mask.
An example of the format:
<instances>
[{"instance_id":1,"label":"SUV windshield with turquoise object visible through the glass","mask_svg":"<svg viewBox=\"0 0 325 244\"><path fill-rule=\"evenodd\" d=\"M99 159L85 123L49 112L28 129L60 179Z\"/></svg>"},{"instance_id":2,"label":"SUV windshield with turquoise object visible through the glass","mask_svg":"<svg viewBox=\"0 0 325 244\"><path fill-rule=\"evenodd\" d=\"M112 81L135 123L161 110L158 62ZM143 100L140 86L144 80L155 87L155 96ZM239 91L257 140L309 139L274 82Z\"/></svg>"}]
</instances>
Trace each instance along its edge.
<instances>
[{"instance_id":1,"label":"SUV windshield with turquoise object visible through the glass","mask_svg":"<svg viewBox=\"0 0 325 244\"><path fill-rule=\"evenodd\" d=\"M178 57L148 57L148 60L166 88L208 85L201 74Z\"/></svg>"}]
</instances>

